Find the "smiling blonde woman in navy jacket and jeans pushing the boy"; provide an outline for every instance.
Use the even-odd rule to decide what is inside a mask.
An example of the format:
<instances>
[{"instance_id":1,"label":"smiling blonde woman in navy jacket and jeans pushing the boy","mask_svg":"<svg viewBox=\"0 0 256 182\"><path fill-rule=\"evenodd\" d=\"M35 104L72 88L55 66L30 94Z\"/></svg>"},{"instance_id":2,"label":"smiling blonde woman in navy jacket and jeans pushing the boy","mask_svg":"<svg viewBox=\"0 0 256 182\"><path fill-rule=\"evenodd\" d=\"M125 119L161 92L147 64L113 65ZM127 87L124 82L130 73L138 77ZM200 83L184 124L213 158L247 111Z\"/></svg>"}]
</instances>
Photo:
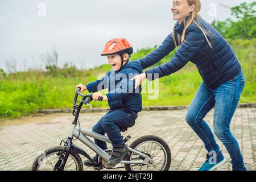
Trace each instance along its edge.
<instances>
[{"instance_id":1,"label":"smiling blonde woman in navy jacket and jeans pushing the boy","mask_svg":"<svg viewBox=\"0 0 256 182\"><path fill-rule=\"evenodd\" d=\"M171 8L174 20L177 20L174 31L155 51L139 60L145 69L163 59L175 47L179 48L171 61L149 69L133 79L137 87L145 78L155 80L178 71L188 61L194 63L203 82L188 108L185 119L203 140L208 151L207 160L199 170L209 171L226 162L210 127L203 120L210 109L215 107L214 133L229 152L233 170L245 171L238 142L229 129L245 86L245 78L233 49L215 28L199 16L200 9L200 0L174 0Z\"/></svg>"}]
</instances>

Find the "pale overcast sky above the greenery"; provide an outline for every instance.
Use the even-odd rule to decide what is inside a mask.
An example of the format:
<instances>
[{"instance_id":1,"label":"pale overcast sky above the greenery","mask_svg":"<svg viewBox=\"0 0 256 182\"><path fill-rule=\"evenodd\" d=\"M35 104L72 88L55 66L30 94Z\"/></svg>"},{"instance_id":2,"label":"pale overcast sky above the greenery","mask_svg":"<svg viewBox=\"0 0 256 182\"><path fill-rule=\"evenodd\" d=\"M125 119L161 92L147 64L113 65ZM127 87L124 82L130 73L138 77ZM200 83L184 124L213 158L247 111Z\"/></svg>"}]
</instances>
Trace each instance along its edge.
<instances>
[{"instance_id":1,"label":"pale overcast sky above the greenery","mask_svg":"<svg viewBox=\"0 0 256 182\"><path fill-rule=\"evenodd\" d=\"M201 1L200 15L210 23L225 20L231 16L228 7L242 2L253 1ZM60 66L94 67L106 63L100 53L114 37L127 38L135 50L159 45L175 24L171 5L170 0L1 0L0 68L7 70L12 59L19 71L44 68L40 55L53 48Z\"/></svg>"}]
</instances>

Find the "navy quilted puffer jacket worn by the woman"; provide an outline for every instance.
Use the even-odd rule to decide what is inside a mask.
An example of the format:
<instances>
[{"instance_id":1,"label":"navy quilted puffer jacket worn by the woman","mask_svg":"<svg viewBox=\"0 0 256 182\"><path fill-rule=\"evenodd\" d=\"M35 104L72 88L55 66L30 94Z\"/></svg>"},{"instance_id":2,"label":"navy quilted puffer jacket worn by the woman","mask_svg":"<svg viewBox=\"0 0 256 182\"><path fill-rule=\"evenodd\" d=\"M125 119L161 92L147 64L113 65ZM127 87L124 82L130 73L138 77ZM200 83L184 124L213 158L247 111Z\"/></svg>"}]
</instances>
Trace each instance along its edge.
<instances>
[{"instance_id":1,"label":"navy quilted puffer jacket worn by the woman","mask_svg":"<svg viewBox=\"0 0 256 182\"><path fill-rule=\"evenodd\" d=\"M208 36L208 39L213 48L210 48L203 32L192 22L187 28L184 42L181 43L174 57L166 64L146 71L148 80L156 79L157 75L154 75L155 73L159 74L159 78L170 75L183 68L188 61L191 61L196 65L205 84L214 89L241 71L241 65L233 49L222 35L200 16L198 16L196 22L212 35L211 38ZM175 35L182 35L183 28L184 23L179 24L177 22L174 27ZM175 38L177 39L177 36ZM170 34L155 51L139 59L142 68L154 65L174 49L174 39Z\"/></svg>"}]
</instances>

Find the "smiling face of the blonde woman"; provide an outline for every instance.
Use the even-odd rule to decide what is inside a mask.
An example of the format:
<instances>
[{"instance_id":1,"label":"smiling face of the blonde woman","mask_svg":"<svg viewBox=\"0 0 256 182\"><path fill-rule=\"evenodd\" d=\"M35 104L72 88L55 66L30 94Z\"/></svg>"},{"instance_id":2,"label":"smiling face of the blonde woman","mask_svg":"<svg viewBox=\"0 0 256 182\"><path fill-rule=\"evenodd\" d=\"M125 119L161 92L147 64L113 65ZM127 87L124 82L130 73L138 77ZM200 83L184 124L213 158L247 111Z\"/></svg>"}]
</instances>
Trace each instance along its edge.
<instances>
[{"instance_id":1,"label":"smiling face of the blonde woman","mask_svg":"<svg viewBox=\"0 0 256 182\"><path fill-rule=\"evenodd\" d=\"M195 9L195 5L189 6L187 0L174 0L172 3L172 14L174 15L174 20L177 20L179 23Z\"/></svg>"}]
</instances>

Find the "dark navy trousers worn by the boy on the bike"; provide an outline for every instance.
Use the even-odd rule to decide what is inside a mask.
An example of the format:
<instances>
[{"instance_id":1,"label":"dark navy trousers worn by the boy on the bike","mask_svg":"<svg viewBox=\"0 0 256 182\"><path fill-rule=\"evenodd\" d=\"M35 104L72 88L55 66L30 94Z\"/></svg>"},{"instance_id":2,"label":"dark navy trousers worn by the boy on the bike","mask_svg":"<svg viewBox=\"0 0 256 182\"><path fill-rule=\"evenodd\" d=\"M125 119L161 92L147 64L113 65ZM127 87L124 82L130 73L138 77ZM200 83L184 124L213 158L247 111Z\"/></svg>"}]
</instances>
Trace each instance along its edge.
<instances>
[{"instance_id":1,"label":"dark navy trousers worn by the boy on the bike","mask_svg":"<svg viewBox=\"0 0 256 182\"><path fill-rule=\"evenodd\" d=\"M93 131L101 135L106 133L113 147L122 146L122 144L125 142L118 129L118 126L133 126L137 116L137 113L130 114L123 109L110 110L104 115L104 117L100 119L100 121L97 122L95 126L93 126ZM94 141L97 146L101 147L103 150L108 148L106 142L97 139L94 139Z\"/></svg>"}]
</instances>

